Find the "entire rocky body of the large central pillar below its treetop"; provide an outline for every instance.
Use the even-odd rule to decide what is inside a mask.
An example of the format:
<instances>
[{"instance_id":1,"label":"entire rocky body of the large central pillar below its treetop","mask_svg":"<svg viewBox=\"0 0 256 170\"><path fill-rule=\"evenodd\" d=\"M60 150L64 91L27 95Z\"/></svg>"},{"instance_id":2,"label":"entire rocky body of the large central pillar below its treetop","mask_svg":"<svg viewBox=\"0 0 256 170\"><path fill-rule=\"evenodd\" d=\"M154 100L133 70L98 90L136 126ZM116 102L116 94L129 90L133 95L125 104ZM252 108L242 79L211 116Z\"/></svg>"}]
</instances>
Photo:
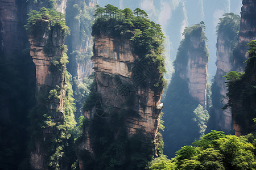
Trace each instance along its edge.
<instances>
[{"instance_id":1,"label":"entire rocky body of the large central pillar below its treetop","mask_svg":"<svg viewBox=\"0 0 256 170\"><path fill-rule=\"evenodd\" d=\"M80 169L90 167L89 162L104 159L107 166L114 164L129 169L141 164L143 167L144 160L150 159L148 155L157 154L158 150L163 91L159 65L155 58L135 53L134 42L129 38L131 33L113 36L110 32L100 29L99 33L94 33L95 78L90 100L86 100L84 133L77 145ZM98 139L105 139L106 143ZM119 146L120 143L123 144ZM101 147L102 150L98 150ZM105 158L110 150L115 150L116 154ZM135 159L135 155L137 158L144 155L144 160Z\"/></svg>"}]
</instances>

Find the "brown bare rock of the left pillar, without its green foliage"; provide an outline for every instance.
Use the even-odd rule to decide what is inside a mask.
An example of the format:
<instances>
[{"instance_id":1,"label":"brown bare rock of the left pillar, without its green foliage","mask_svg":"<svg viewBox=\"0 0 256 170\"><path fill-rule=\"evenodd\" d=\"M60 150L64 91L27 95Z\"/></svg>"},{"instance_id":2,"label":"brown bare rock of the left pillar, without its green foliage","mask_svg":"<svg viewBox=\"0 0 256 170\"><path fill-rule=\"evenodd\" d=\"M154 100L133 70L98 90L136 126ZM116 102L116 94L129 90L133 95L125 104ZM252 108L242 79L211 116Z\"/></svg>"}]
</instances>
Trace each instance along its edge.
<instances>
[{"instance_id":1,"label":"brown bare rock of the left pillar, without its green foliage","mask_svg":"<svg viewBox=\"0 0 256 170\"><path fill-rule=\"evenodd\" d=\"M65 79L63 72L53 71L52 61L63 55L64 32L61 27L54 27L48 29L48 20L42 20L37 24L36 33L31 33L30 41L30 55L35 63L36 68L36 107L45 108L46 112L52 116L55 124L61 123L61 118L64 116L64 97ZM40 28L40 29L39 29ZM51 52L46 53L47 45L52 42ZM49 48L49 47L48 47ZM60 87L60 97L49 99L46 102L46 96L49 90ZM47 114L45 113L45 114ZM43 130L43 137L34 138L35 149L31 151L30 164L34 169L48 169L47 158L49 156L48 146L43 145L43 142L50 140L53 133L53 127L48 127ZM41 140L43 138L43 141Z\"/></svg>"}]
</instances>

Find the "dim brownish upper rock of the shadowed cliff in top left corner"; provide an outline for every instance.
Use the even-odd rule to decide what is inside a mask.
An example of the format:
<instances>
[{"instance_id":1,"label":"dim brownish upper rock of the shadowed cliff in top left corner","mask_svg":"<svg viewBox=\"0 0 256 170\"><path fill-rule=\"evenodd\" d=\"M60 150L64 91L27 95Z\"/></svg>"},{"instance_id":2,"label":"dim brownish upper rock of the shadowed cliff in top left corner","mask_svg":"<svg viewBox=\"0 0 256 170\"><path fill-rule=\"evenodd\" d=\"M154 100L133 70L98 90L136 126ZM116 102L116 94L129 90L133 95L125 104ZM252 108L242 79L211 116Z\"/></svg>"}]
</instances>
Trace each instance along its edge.
<instances>
[{"instance_id":1,"label":"dim brownish upper rock of the shadowed cliff in top left corner","mask_svg":"<svg viewBox=\"0 0 256 170\"><path fill-rule=\"evenodd\" d=\"M1 1L0 16L0 53L11 58L25 46L22 39L26 36L26 1Z\"/></svg>"}]
</instances>

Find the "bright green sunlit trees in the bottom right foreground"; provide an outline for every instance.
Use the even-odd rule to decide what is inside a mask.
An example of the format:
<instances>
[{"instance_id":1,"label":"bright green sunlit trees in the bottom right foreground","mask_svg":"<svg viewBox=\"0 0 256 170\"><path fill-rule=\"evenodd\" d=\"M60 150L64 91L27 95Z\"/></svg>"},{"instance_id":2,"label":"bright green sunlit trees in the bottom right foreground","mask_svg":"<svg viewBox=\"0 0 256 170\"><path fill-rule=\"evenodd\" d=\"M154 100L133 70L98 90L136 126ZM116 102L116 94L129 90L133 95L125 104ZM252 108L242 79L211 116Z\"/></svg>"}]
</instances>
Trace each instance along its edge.
<instances>
[{"instance_id":1,"label":"bright green sunlit trees in the bottom right foreground","mask_svg":"<svg viewBox=\"0 0 256 170\"><path fill-rule=\"evenodd\" d=\"M156 169L255 169L256 136L243 137L225 135L212 130L200 140L184 146L173 159L162 155L150 163L150 170Z\"/></svg>"}]
</instances>

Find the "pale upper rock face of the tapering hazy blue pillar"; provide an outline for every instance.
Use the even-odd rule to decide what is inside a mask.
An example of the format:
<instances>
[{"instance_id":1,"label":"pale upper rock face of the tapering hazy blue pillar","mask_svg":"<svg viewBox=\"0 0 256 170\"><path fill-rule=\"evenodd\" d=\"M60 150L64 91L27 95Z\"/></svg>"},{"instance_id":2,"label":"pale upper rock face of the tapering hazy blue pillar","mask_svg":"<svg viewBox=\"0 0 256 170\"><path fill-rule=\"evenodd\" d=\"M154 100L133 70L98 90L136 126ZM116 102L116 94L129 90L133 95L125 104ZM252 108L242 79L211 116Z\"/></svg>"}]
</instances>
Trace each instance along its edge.
<instances>
[{"instance_id":1,"label":"pale upper rock face of the tapering hazy blue pillar","mask_svg":"<svg viewBox=\"0 0 256 170\"><path fill-rule=\"evenodd\" d=\"M201 29L201 28L199 28ZM200 30L197 30L201 32ZM187 63L184 61L175 62L175 73L179 74L180 78L187 81L189 94L199 103L207 107L207 68L208 68L208 53L204 50L206 40L198 34L187 36L186 41Z\"/></svg>"}]
</instances>

